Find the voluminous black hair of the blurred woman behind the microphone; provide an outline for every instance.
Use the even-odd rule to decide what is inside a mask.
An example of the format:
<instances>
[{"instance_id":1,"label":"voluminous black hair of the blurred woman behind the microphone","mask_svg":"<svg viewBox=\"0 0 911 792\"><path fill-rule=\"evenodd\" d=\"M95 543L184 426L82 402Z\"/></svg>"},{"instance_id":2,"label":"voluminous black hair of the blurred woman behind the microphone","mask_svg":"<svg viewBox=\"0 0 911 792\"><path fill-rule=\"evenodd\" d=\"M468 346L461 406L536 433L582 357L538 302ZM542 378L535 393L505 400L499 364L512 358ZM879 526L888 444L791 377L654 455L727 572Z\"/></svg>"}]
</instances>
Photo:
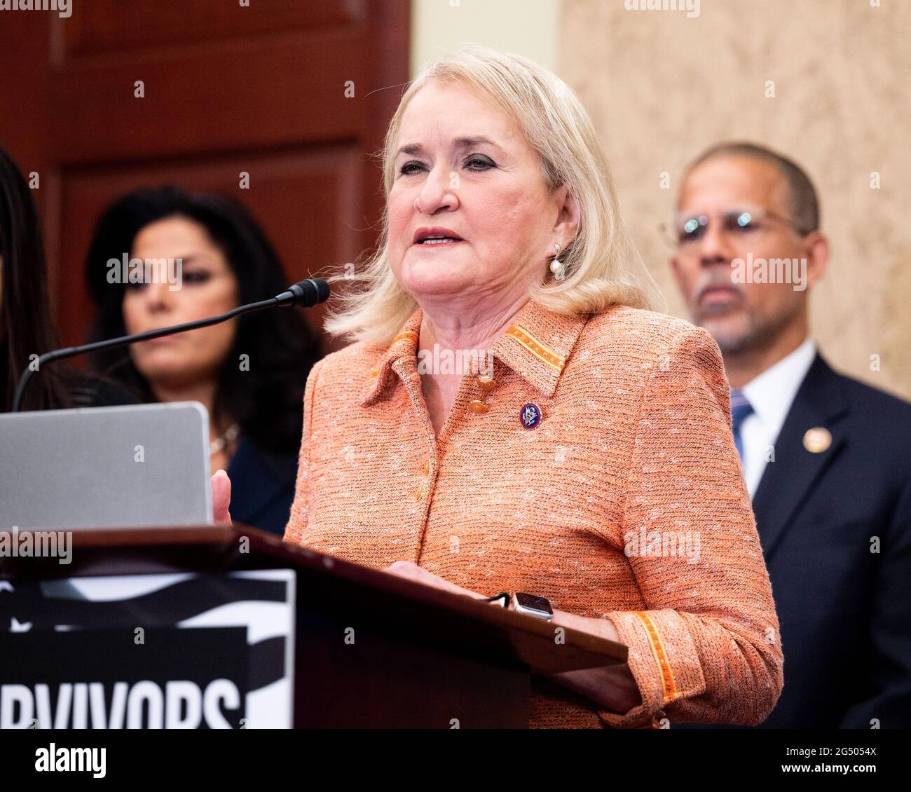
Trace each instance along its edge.
<instances>
[{"instance_id":1,"label":"voluminous black hair of the blurred woman behind the microphone","mask_svg":"<svg viewBox=\"0 0 911 792\"><path fill-rule=\"evenodd\" d=\"M199 223L224 253L237 278L240 304L287 288L287 277L265 232L237 201L172 185L136 190L108 207L89 247L87 286L98 308L91 340L127 332L123 320L127 286L108 283L108 260L119 261L124 253L130 254L139 231L172 217ZM220 366L212 418L236 421L241 432L262 447L296 451L301 445L303 386L320 357L319 341L295 309L260 311L237 322L233 345ZM249 372L241 370L241 355L249 355ZM128 347L94 355L92 365L133 388L145 401L155 401Z\"/></svg>"}]
</instances>

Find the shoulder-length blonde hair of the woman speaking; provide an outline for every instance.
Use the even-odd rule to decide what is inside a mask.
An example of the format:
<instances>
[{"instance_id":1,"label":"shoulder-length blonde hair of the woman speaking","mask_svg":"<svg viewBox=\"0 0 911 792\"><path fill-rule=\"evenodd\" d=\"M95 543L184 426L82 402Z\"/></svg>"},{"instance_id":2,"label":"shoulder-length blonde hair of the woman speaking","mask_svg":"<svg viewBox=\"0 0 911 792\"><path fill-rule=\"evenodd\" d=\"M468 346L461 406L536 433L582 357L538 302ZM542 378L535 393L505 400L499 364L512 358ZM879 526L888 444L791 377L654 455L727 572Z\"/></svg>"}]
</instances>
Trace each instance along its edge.
<instances>
[{"instance_id":1,"label":"shoulder-length blonde hair of the woman speaking","mask_svg":"<svg viewBox=\"0 0 911 792\"><path fill-rule=\"evenodd\" d=\"M493 99L537 150L548 189L567 184L578 202L578 231L560 252L565 265L562 280L545 282L542 277L529 296L566 315L599 314L614 304L649 307L657 290L619 216L608 160L589 114L559 77L526 57L463 45L422 69L405 90L386 132L382 161L387 201L404 110L430 80L461 82ZM389 266L388 231L384 211L379 245L362 272L329 278L353 281L360 288L340 295L341 305L327 314L327 332L385 345L415 312L415 298L399 285ZM542 268L542 276L547 273Z\"/></svg>"}]
</instances>

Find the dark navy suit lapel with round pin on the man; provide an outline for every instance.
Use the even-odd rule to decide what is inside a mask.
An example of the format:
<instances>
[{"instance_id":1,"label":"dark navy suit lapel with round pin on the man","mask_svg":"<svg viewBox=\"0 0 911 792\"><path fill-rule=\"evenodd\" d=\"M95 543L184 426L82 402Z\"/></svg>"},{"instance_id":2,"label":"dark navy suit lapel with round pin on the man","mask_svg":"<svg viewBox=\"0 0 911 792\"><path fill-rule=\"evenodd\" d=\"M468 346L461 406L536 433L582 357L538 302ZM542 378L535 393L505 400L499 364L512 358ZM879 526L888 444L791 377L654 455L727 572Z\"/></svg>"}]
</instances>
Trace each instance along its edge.
<instances>
[{"instance_id":1,"label":"dark navy suit lapel with round pin on the man","mask_svg":"<svg viewBox=\"0 0 911 792\"><path fill-rule=\"evenodd\" d=\"M844 446L840 420L847 412L838 375L817 354L775 440L775 461L765 466L752 499L767 564L814 483ZM804 435L814 427L823 427L832 435L832 444L818 453L804 447Z\"/></svg>"}]
</instances>

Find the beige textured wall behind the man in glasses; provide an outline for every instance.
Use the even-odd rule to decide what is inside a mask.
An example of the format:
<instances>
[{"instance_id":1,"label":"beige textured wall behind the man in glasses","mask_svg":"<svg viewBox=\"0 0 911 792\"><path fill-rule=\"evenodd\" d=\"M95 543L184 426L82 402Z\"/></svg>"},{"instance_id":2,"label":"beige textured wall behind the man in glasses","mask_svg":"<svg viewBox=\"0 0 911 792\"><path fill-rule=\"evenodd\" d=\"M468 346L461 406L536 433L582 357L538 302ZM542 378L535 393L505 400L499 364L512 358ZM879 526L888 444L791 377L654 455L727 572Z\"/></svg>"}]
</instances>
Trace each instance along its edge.
<instances>
[{"instance_id":1,"label":"beige textured wall behind the man in glasses","mask_svg":"<svg viewBox=\"0 0 911 792\"><path fill-rule=\"evenodd\" d=\"M771 145L810 173L833 244L814 336L846 373L911 398L911 0L873 2L701 0L687 18L560 0L557 70L595 120L670 313L686 315L656 226L683 166L720 139Z\"/></svg>"}]
</instances>

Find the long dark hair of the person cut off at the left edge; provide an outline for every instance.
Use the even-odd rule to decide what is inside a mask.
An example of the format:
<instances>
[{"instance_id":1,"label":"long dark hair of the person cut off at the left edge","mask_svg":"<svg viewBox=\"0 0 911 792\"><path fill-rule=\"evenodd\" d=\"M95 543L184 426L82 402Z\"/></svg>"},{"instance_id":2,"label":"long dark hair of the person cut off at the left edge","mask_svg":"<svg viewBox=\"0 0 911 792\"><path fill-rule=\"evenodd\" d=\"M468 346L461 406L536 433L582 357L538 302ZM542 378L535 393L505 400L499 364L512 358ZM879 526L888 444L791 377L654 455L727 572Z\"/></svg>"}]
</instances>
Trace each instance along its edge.
<instances>
[{"instance_id":1,"label":"long dark hair of the person cut off at the left edge","mask_svg":"<svg viewBox=\"0 0 911 792\"><path fill-rule=\"evenodd\" d=\"M19 376L41 355L59 346L51 319L41 227L31 190L15 162L0 148L0 411L13 408ZM25 410L71 406L66 369L47 366L32 377Z\"/></svg>"}]
</instances>

